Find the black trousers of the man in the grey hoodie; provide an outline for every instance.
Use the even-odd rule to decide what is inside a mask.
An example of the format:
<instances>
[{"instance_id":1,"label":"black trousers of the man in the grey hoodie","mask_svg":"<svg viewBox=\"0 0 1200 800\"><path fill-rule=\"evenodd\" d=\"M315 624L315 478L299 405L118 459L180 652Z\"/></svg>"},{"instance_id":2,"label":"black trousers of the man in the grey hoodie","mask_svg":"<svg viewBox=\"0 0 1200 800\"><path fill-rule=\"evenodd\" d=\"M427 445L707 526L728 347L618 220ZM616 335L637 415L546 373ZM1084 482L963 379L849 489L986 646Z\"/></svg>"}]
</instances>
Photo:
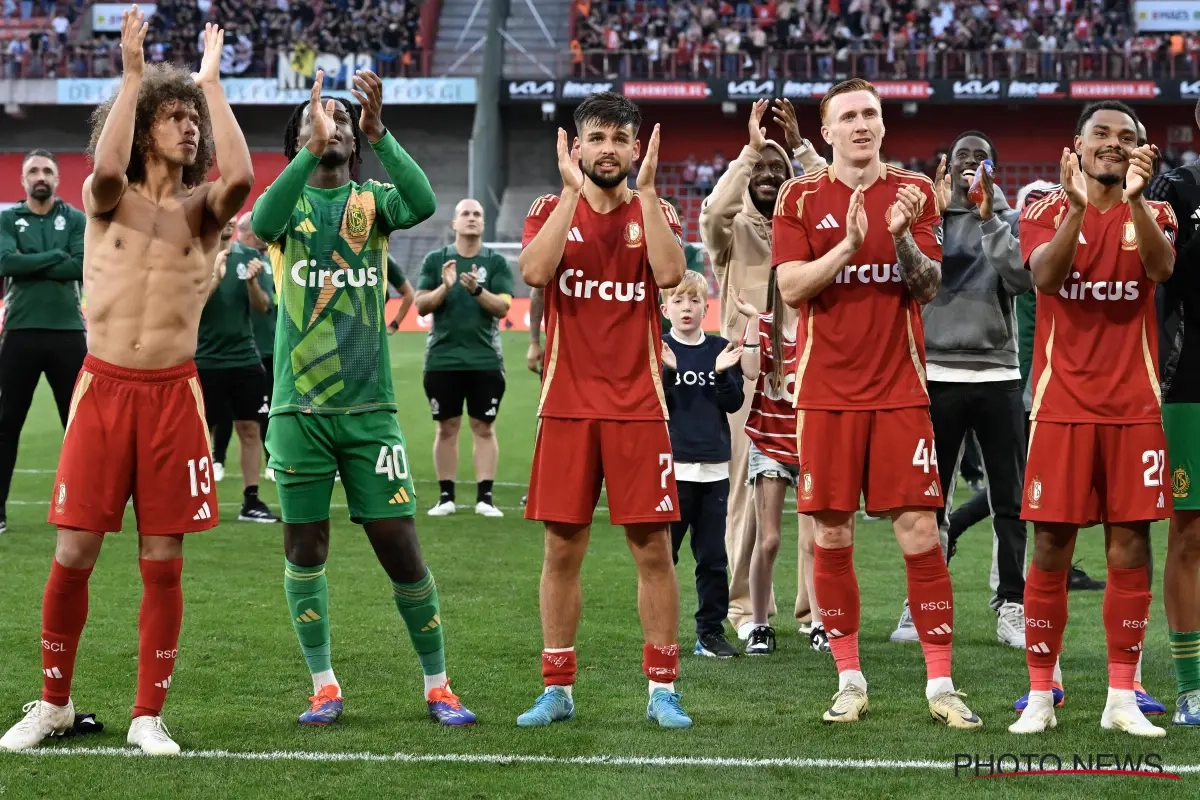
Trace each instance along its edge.
<instances>
[{"instance_id":1,"label":"black trousers of the man in the grey hoodie","mask_svg":"<svg viewBox=\"0 0 1200 800\"><path fill-rule=\"evenodd\" d=\"M988 501L996 533L1000 603L1024 603L1025 547L1028 537L1021 521L1025 482L1025 405L1018 380L982 384L929 383L930 416L937 447L942 497L954 515L954 483L967 431L979 440L988 477ZM974 501L977 510L979 500ZM947 509L937 522L947 525ZM968 512L970 513L970 512Z\"/></svg>"}]
</instances>

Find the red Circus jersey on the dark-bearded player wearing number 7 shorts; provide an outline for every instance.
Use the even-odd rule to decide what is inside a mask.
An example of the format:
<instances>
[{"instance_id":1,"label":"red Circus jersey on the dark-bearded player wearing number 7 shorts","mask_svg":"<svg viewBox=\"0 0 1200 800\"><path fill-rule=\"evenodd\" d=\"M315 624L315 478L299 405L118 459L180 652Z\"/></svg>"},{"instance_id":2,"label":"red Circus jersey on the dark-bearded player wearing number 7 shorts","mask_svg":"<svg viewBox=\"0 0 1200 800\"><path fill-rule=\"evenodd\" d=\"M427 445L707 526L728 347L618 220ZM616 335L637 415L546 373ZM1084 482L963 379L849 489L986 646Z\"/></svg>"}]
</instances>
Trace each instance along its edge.
<instances>
[{"instance_id":1,"label":"red Circus jersey on the dark-bearded player wearing number 7 shorts","mask_svg":"<svg viewBox=\"0 0 1200 800\"><path fill-rule=\"evenodd\" d=\"M526 216L522 247L533 241L557 204L553 194L534 200ZM683 228L674 209L665 200L659 205L682 242ZM659 365L659 289L644 230L637 192L610 213L598 213L580 198L563 260L546 285L539 416L666 419Z\"/></svg>"}]
</instances>

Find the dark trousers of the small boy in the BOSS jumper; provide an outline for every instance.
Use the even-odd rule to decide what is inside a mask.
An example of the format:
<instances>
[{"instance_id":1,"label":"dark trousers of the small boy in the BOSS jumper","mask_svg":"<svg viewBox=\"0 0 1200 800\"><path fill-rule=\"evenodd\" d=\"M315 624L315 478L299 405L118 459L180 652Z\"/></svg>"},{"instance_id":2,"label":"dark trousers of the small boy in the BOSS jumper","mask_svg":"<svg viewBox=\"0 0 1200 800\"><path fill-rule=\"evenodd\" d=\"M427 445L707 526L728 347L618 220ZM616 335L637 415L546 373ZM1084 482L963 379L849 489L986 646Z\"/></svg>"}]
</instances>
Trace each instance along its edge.
<instances>
[{"instance_id":1,"label":"dark trousers of the small boy in the BOSS jumper","mask_svg":"<svg viewBox=\"0 0 1200 800\"><path fill-rule=\"evenodd\" d=\"M725 554L725 516L730 481L698 483L678 481L679 522L671 523L671 557L679 563L679 547L691 529L691 554L696 558L696 636L722 633L730 613L728 557Z\"/></svg>"}]
</instances>

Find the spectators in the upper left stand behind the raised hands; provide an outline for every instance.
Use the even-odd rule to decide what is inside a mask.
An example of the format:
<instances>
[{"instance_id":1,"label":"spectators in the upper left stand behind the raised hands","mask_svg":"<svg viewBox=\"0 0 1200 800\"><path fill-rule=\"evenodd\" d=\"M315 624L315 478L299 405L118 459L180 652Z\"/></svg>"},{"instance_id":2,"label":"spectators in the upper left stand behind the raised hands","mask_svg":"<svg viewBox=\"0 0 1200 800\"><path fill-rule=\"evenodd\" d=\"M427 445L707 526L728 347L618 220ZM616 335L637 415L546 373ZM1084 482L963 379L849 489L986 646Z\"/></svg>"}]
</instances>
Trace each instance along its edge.
<instances>
[{"instance_id":1,"label":"spectators in the upper left stand behind the raised hands","mask_svg":"<svg viewBox=\"0 0 1200 800\"><path fill-rule=\"evenodd\" d=\"M82 19L88 6L28 0L12 6L13 19L43 18L4 42L4 74L14 78L112 77L120 74L116 32L91 30ZM226 25L221 73L270 77L277 55L289 53L304 64L317 53L338 56L367 53L384 76L415 74L421 58L420 4L410 0L164 0L156 4L146 36L146 59L197 68L203 55L204 23ZM28 30L28 32L25 32ZM0 31L0 41L5 36Z\"/></svg>"}]
</instances>

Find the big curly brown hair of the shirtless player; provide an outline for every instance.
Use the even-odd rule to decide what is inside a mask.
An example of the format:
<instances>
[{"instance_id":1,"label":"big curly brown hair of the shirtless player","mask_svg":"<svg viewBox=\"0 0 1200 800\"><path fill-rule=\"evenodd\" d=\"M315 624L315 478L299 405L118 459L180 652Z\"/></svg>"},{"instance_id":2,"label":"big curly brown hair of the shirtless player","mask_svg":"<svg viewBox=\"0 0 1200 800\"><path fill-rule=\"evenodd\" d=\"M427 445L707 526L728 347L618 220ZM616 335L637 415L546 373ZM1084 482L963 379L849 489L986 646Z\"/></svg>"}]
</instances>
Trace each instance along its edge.
<instances>
[{"instance_id":1,"label":"big curly brown hair of the shirtless player","mask_svg":"<svg viewBox=\"0 0 1200 800\"><path fill-rule=\"evenodd\" d=\"M96 158L96 144L104 130L104 121L116 95L108 98L103 106L91 113L91 142L88 155ZM184 167L184 186L199 186L212 169L212 119L209 104L204 101L204 91L192 80L192 73L179 67L162 64L148 64L142 73L142 86L138 89L138 107L133 121L133 150L130 154L130 166L125 176L131 184L140 184L146 176L145 154L154 146L150 130L158 118L158 110L167 103L180 102L191 106L200 118L199 137L196 142L196 162Z\"/></svg>"}]
</instances>

